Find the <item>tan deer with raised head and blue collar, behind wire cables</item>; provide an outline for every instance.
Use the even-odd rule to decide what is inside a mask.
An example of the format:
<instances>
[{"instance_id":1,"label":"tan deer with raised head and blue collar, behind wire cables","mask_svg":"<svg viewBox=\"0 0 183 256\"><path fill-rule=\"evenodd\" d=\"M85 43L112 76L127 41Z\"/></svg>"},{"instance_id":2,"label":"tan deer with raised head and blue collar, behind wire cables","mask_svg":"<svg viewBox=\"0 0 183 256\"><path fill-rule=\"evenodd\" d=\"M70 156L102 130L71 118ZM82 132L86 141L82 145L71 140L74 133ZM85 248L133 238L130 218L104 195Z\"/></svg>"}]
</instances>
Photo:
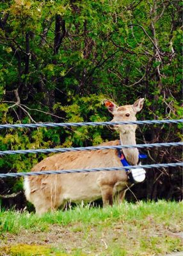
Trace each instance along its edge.
<instances>
[{"instance_id":1,"label":"tan deer with raised head and blue collar, behind wire cables","mask_svg":"<svg viewBox=\"0 0 183 256\"><path fill-rule=\"evenodd\" d=\"M136 121L136 113L143 108L144 99L140 98L132 105L117 106L111 100L104 100L111 122ZM136 124L116 124L113 129L120 133L120 141L107 141L100 145L136 145ZM138 148L123 148L123 155L130 165L139 161ZM70 170L88 168L122 167L116 149L63 152L46 157L31 171ZM67 202L93 202L102 198L103 205L113 205L118 195L121 203L125 192L132 186L125 170L85 173L60 173L56 175L36 175L24 179L26 198L35 206L36 214L64 209Z\"/></svg>"}]
</instances>

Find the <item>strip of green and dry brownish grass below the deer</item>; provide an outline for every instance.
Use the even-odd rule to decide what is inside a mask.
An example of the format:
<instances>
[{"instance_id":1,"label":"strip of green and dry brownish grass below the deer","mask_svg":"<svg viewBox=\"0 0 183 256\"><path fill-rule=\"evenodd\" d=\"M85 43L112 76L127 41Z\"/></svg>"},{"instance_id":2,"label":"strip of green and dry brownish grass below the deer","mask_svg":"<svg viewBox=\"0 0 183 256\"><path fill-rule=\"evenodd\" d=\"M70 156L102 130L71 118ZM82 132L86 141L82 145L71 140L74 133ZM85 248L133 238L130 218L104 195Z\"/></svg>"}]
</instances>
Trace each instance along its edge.
<instances>
[{"instance_id":1,"label":"strip of green and dry brownish grass below the deer","mask_svg":"<svg viewBox=\"0 0 183 256\"><path fill-rule=\"evenodd\" d=\"M10 255L31 255L24 252L26 244L31 242L35 248L45 246L48 254L44 255L148 256L179 252L183 250L177 236L182 231L182 209L182 202L159 201L124 202L113 207L90 209L77 206L42 217L28 212L1 211L3 245L0 249L9 250ZM56 242L53 239L49 244L45 243L47 236L54 236ZM10 237L13 237L12 245ZM24 249L16 254L12 246ZM41 255L39 252L40 248L32 255Z\"/></svg>"}]
</instances>

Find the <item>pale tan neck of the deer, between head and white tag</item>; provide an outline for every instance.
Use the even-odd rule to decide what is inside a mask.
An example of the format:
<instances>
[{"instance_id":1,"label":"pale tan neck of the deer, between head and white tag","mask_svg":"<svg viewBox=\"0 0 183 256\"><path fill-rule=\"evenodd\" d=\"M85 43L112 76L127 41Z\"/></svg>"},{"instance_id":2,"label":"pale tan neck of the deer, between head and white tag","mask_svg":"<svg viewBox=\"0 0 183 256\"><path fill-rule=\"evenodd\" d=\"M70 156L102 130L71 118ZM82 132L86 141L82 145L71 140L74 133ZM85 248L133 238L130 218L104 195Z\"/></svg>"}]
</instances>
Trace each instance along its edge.
<instances>
[{"instance_id":1,"label":"pale tan neck of the deer, between head and white tag","mask_svg":"<svg viewBox=\"0 0 183 256\"><path fill-rule=\"evenodd\" d=\"M135 131L129 131L125 133L120 132L120 141L122 145L136 145ZM123 148L123 154L127 159L127 162L131 165L138 164L139 152L138 148Z\"/></svg>"}]
</instances>

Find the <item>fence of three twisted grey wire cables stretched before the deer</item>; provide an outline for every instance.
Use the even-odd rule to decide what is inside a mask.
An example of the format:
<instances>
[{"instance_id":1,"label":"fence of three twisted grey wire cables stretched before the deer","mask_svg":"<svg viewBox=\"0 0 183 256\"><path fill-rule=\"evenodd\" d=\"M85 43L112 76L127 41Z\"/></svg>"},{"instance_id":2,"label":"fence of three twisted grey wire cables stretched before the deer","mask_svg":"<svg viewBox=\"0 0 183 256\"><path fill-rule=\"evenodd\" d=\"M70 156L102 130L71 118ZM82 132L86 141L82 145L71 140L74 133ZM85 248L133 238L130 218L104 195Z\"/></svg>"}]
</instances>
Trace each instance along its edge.
<instances>
[{"instance_id":1,"label":"fence of three twisted grey wire cables stretched before the deer","mask_svg":"<svg viewBox=\"0 0 183 256\"><path fill-rule=\"evenodd\" d=\"M36 128L36 127L81 127L81 126L97 126L97 125L134 125L134 124L180 124L183 119L179 120L144 120L144 121L129 121L129 122L80 122L80 123L37 123L37 124L4 124L0 125L0 129L17 129L17 128ZM32 150L3 150L0 155L6 154L38 154L38 153L51 153L51 152L71 152L71 151L88 151L88 150L109 150L109 149L122 149L122 148L153 148L153 147L180 147L183 146L182 142L171 143L151 143L151 144L137 144L137 145L114 145L114 146L97 146L97 147L76 147L76 148L46 148L46 149L32 149ZM30 175L51 175L60 173L81 173L81 172L100 172L100 171L116 171L116 170L129 170L135 168L168 168L183 166L181 163L163 163L163 164L145 164L137 166L117 166L109 168L91 168L91 169L72 169L72 170L47 170L40 172L22 172L22 173L0 173L1 178L6 177L25 177Z\"/></svg>"}]
</instances>

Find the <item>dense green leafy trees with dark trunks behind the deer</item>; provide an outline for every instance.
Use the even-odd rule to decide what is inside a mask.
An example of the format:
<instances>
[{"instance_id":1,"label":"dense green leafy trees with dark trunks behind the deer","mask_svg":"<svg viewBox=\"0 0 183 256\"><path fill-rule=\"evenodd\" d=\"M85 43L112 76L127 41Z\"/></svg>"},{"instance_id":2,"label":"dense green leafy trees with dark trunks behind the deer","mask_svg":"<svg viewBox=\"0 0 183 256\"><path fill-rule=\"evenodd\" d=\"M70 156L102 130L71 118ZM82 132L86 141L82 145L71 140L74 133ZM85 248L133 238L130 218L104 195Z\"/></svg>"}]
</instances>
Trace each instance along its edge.
<instances>
[{"instance_id":1,"label":"dense green leafy trees with dark trunks behind the deer","mask_svg":"<svg viewBox=\"0 0 183 256\"><path fill-rule=\"evenodd\" d=\"M145 97L139 120L182 118L182 3L177 0L1 0L1 124L109 121L102 104ZM137 143L181 140L181 125L140 125ZM3 129L0 150L98 145L107 127ZM181 161L181 148L141 150L143 163ZM45 154L1 156L0 172L28 172ZM180 200L181 168L147 171L138 199ZM22 179L0 179L0 194ZM3 198L3 197L2 197ZM132 193L129 200L136 200ZM3 199L2 199L3 200Z\"/></svg>"}]
</instances>

